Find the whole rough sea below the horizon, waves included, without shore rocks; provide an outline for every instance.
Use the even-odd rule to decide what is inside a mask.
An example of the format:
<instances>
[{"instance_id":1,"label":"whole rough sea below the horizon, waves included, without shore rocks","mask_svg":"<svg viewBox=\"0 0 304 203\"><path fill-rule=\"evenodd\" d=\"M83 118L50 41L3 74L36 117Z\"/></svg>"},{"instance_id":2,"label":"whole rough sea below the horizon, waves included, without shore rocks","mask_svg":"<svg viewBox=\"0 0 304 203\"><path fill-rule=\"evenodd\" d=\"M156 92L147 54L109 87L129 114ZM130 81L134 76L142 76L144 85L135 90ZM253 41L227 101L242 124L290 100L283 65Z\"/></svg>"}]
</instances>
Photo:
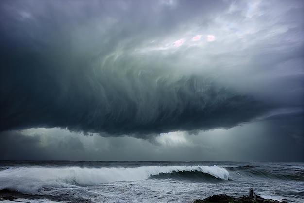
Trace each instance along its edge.
<instances>
[{"instance_id":1,"label":"whole rough sea below the horizon, waves included, without shore rocks","mask_svg":"<svg viewBox=\"0 0 304 203\"><path fill-rule=\"evenodd\" d=\"M0 161L7 202L191 203L250 188L304 203L304 163Z\"/></svg>"}]
</instances>

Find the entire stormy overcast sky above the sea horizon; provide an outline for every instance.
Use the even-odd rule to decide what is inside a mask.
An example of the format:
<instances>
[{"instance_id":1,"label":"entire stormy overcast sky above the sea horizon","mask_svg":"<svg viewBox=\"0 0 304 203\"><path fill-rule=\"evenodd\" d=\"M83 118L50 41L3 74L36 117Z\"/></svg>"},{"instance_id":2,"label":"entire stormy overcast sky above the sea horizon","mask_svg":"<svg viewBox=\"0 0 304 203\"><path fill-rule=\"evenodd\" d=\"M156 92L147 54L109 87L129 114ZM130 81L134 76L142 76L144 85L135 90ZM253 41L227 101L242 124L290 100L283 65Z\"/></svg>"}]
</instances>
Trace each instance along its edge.
<instances>
[{"instance_id":1,"label":"entire stormy overcast sky above the sea horizon","mask_svg":"<svg viewBox=\"0 0 304 203\"><path fill-rule=\"evenodd\" d=\"M0 1L0 159L304 161L304 1Z\"/></svg>"}]
</instances>

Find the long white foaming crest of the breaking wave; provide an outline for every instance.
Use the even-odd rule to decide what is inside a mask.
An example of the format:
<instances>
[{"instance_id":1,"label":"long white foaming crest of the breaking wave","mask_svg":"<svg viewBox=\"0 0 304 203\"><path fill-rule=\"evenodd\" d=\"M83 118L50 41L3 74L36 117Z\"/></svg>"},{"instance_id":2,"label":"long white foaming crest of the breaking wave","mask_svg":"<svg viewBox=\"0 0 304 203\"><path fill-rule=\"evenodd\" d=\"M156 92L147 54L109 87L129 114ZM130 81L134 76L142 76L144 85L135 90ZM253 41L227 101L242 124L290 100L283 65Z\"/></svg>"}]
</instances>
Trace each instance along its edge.
<instances>
[{"instance_id":1,"label":"long white foaming crest of the breaking wave","mask_svg":"<svg viewBox=\"0 0 304 203\"><path fill-rule=\"evenodd\" d=\"M81 168L81 167L17 167L0 171L0 189L37 193L41 188L98 185L115 181L137 181L151 175L173 171L201 171L216 178L228 180L229 173L218 166L141 166L135 168Z\"/></svg>"}]
</instances>

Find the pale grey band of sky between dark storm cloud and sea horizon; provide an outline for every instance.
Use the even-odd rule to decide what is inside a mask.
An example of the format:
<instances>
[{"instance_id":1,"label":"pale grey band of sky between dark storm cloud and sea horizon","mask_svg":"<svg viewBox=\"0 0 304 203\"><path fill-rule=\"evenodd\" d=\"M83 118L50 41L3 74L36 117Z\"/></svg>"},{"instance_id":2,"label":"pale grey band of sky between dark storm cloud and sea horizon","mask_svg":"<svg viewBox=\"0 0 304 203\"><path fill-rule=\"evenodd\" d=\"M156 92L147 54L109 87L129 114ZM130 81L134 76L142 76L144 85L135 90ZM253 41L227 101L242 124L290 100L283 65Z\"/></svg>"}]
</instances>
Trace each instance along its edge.
<instances>
[{"instance_id":1,"label":"pale grey band of sky between dark storm cloud and sea horizon","mask_svg":"<svg viewBox=\"0 0 304 203\"><path fill-rule=\"evenodd\" d=\"M0 134L0 159L103 161L304 161L303 119L271 119L231 129L129 136L84 136L64 129Z\"/></svg>"}]
</instances>

